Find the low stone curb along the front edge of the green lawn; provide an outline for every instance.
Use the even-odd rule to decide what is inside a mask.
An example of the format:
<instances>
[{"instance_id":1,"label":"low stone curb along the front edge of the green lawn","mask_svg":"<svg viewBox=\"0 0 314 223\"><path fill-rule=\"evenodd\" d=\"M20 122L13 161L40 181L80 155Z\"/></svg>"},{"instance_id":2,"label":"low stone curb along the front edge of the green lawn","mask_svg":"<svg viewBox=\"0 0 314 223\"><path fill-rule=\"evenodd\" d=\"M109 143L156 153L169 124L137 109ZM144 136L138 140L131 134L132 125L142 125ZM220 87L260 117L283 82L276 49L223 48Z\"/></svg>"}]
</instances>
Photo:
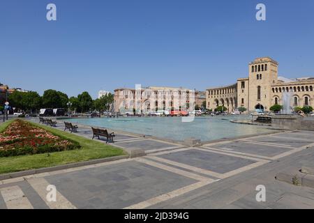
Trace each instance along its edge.
<instances>
[{"instance_id":1,"label":"low stone curb along the front edge of the green lawn","mask_svg":"<svg viewBox=\"0 0 314 223\"><path fill-rule=\"evenodd\" d=\"M45 168L31 169L31 170L20 171L20 172L15 172L15 173L10 173L10 174L1 174L0 180L7 180L7 179L11 179L11 178L29 176L29 175L33 175L33 174L42 174L42 173L50 172L50 171L70 169L73 167L88 166L91 164L98 164L98 163L102 163L102 162L110 162L110 161L115 161L115 160L128 159L128 157L129 157L129 155L119 155L119 156L115 156L115 157L107 157L107 158L98 159L98 160L88 160L88 161L84 161L84 162L74 162L74 163L70 163L70 164L63 164L63 165L59 165L56 167L45 167Z\"/></svg>"}]
</instances>

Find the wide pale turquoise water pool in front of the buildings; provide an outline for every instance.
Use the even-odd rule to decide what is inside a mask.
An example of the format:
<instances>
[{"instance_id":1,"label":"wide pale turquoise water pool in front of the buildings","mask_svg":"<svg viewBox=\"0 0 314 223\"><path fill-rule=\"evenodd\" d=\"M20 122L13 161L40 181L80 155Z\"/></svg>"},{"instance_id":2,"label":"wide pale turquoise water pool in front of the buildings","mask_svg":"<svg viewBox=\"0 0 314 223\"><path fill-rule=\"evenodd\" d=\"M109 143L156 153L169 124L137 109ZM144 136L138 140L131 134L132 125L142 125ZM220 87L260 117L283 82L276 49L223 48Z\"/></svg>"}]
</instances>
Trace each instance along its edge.
<instances>
[{"instance_id":1,"label":"wide pale turquoise water pool in front of the buildings","mask_svg":"<svg viewBox=\"0 0 314 223\"><path fill-rule=\"evenodd\" d=\"M249 116L195 117L195 120L190 123L181 122L179 117L70 118L70 121L176 141L183 141L189 137L209 141L273 131L263 126L230 122L231 119L241 118L248 119Z\"/></svg>"}]
</instances>

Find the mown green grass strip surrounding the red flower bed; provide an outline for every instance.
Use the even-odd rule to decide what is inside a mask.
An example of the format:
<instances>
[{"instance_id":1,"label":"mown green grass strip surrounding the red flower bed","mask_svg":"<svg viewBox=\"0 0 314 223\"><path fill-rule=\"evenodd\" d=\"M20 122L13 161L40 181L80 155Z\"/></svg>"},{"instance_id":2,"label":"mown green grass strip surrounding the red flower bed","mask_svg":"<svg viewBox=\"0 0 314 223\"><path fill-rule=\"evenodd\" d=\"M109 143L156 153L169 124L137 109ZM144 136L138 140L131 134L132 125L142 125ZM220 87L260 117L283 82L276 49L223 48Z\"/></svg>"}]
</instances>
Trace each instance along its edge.
<instances>
[{"instance_id":1,"label":"mown green grass strip surrounding the red flower bed","mask_svg":"<svg viewBox=\"0 0 314 223\"><path fill-rule=\"evenodd\" d=\"M12 120L13 121L13 120ZM0 124L0 132L12 123L8 121ZM106 145L100 141L87 139L84 137L71 134L70 132L63 132L55 128L46 127L36 123L32 123L40 128L49 130L53 134L57 134L68 139L73 139L80 143L82 148L72 151L62 151L56 153L36 154L36 155L22 155L16 157L0 157L0 174L12 173L16 171L24 171L28 169L38 169L43 167L53 167L60 164L69 164L73 162L82 162L87 160L95 160L105 157L112 157L117 155L126 155L121 148Z\"/></svg>"}]
</instances>

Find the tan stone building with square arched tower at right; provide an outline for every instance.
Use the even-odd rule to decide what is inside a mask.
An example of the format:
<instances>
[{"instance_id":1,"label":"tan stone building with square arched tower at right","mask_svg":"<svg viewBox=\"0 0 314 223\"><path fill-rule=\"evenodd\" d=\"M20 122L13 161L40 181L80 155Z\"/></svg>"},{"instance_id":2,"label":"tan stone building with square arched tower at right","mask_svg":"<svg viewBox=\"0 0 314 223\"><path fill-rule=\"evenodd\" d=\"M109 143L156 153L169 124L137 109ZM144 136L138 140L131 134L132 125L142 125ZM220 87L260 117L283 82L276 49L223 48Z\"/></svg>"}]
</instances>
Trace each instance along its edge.
<instances>
[{"instance_id":1,"label":"tan stone building with square arched tower at right","mask_svg":"<svg viewBox=\"0 0 314 223\"><path fill-rule=\"evenodd\" d=\"M239 78L230 86L207 89L207 109L223 105L227 112L238 107L245 107L248 112L263 112L273 105L283 105L283 100L289 100L290 109L312 106L313 87L314 78L278 77L278 62L270 57L257 58L248 64L248 77Z\"/></svg>"}]
</instances>

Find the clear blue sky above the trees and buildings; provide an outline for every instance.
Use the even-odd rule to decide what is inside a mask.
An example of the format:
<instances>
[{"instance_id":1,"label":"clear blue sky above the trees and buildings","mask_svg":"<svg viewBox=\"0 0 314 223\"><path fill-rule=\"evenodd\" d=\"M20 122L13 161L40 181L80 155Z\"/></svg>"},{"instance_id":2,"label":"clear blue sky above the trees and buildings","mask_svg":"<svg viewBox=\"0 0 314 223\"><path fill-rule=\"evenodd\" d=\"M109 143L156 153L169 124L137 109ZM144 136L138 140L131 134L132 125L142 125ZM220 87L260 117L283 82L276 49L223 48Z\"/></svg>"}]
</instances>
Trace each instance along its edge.
<instances>
[{"instance_id":1,"label":"clear blue sky above the trees and buildings","mask_svg":"<svg viewBox=\"0 0 314 223\"><path fill-rule=\"evenodd\" d=\"M0 82L94 98L135 84L204 90L247 77L259 56L285 77L314 76L313 12L313 0L1 0Z\"/></svg>"}]
</instances>

